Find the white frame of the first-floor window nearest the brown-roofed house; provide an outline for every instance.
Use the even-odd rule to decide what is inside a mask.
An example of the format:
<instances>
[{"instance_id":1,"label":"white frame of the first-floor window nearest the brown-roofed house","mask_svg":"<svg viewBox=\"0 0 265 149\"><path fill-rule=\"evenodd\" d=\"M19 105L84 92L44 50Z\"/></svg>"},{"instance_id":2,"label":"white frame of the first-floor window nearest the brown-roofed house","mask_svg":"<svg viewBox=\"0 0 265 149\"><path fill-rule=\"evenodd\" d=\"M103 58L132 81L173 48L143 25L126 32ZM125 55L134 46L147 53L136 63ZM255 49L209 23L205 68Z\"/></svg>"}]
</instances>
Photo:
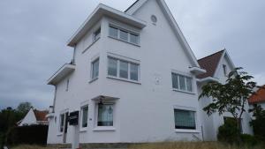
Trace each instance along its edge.
<instances>
[{"instance_id":1,"label":"white frame of the first-floor window nearest the brown-roofed house","mask_svg":"<svg viewBox=\"0 0 265 149\"><path fill-rule=\"evenodd\" d=\"M174 88L173 87L173 79L172 79L172 74L173 73L175 75L178 75L178 88ZM171 75L171 87L172 87L172 90L173 91L178 91L178 92L182 92L182 93L194 93L194 90L195 90L195 88L194 88L194 78L193 78L192 75L186 74L186 73L180 72L180 71L174 71L174 70L171 71L171 74L170 75ZM179 76L183 76L184 79L185 79L185 90L181 90L180 89ZM192 79L192 92L188 91L187 84L186 84L187 83L187 78L191 78Z\"/></svg>"}]
</instances>

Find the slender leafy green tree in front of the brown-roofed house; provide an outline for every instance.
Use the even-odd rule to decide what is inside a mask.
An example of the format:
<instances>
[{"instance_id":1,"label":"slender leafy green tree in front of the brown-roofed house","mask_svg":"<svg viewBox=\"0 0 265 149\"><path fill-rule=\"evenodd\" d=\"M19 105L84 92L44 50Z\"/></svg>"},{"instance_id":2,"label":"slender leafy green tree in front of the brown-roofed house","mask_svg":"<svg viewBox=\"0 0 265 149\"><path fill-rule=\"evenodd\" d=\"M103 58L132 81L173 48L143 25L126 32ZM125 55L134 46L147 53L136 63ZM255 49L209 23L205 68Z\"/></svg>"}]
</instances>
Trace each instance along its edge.
<instances>
[{"instance_id":1,"label":"slender leafy green tree in front of the brown-roofed house","mask_svg":"<svg viewBox=\"0 0 265 149\"><path fill-rule=\"evenodd\" d=\"M251 81L254 77L249 76L242 68L236 68L231 71L225 84L219 82L209 82L202 86L202 97L211 97L213 102L203 108L208 115L218 112L223 115L224 112L231 113L237 120L238 141L240 142L240 123L241 117L246 112L247 99L254 93L256 83Z\"/></svg>"}]
</instances>

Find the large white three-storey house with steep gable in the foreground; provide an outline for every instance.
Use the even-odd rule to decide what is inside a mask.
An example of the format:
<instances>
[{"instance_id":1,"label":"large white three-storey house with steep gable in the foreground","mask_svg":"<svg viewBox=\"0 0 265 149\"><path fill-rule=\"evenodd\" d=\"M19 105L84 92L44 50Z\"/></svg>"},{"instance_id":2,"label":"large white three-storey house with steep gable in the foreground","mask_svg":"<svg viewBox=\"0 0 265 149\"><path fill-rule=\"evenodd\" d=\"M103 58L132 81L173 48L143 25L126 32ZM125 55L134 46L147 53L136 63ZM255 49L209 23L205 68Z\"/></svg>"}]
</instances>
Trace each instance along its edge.
<instances>
[{"instance_id":1,"label":"large white three-storey house with steep gable in the foreground","mask_svg":"<svg viewBox=\"0 0 265 149\"><path fill-rule=\"evenodd\" d=\"M200 68L164 0L139 0L125 12L99 4L68 46L73 60L55 86L48 144L201 140Z\"/></svg>"}]
</instances>

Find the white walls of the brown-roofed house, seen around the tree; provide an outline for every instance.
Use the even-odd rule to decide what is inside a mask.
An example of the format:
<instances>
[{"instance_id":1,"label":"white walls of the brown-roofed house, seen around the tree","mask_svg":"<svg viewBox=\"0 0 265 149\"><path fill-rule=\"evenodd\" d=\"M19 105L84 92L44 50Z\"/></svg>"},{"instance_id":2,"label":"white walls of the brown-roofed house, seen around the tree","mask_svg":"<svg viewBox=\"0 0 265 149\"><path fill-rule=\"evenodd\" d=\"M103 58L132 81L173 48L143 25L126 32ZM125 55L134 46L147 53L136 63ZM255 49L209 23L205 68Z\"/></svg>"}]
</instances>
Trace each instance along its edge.
<instances>
[{"instance_id":1,"label":"white walls of the brown-roofed house, seen around the tree","mask_svg":"<svg viewBox=\"0 0 265 149\"><path fill-rule=\"evenodd\" d=\"M218 63L215 74L213 76L213 78L216 78L216 80L222 84L224 84L227 80L227 75L225 75L223 71L223 65L226 66L227 74L235 69L226 50L223 51L223 56L221 56L220 62ZM204 83L199 83L199 93L201 93L201 86L203 85ZM212 102L212 99L206 97L201 98L199 100L201 107L203 138L207 141L215 141L217 140L216 137L218 133L218 128L224 123L224 117L232 117L232 115L230 113L224 113L223 115L214 113L213 115L208 116L207 113L202 110L202 108L208 106L210 102ZM251 115L247 112L248 109L249 106L246 103L246 112L242 115L241 128L242 133L253 134L253 129L249 125L249 123L251 122Z\"/></svg>"}]
</instances>

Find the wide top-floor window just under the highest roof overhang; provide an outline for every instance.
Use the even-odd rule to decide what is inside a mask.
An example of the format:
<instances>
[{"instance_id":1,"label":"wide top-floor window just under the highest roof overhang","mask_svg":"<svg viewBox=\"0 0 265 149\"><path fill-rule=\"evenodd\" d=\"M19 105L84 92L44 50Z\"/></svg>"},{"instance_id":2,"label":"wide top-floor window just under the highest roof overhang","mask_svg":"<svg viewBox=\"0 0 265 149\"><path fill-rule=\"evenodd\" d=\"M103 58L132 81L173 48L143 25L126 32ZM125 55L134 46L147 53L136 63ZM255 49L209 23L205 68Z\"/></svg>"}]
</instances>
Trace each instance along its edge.
<instances>
[{"instance_id":1,"label":"wide top-floor window just under the highest roof overhang","mask_svg":"<svg viewBox=\"0 0 265 149\"><path fill-rule=\"evenodd\" d=\"M136 45L139 45L140 37L139 34L135 34L118 27L110 26L110 37L116 38L121 41L130 42Z\"/></svg>"}]
</instances>

